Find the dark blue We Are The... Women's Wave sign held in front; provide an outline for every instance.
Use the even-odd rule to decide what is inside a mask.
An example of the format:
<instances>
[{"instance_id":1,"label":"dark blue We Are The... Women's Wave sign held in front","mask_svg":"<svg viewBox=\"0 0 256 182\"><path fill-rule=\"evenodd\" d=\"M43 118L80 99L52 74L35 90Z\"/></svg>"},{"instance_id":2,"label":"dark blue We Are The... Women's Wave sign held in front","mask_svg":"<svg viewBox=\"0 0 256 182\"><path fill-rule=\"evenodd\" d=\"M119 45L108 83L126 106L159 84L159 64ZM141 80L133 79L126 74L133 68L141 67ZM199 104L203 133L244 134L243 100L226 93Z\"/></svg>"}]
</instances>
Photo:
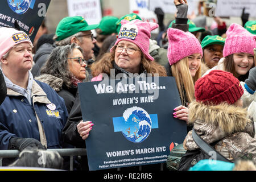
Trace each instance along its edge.
<instances>
[{"instance_id":1,"label":"dark blue We Are The... Women's Wave sign held in front","mask_svg":"<svg viewBox=\"0 0 256 182\"><path fill-rule=\"evenodd\" d=\"M90 170L166 163L170 145L183 143L184 121L174 77L129 78L79 84Z\"/></svg>"}]
</instances>

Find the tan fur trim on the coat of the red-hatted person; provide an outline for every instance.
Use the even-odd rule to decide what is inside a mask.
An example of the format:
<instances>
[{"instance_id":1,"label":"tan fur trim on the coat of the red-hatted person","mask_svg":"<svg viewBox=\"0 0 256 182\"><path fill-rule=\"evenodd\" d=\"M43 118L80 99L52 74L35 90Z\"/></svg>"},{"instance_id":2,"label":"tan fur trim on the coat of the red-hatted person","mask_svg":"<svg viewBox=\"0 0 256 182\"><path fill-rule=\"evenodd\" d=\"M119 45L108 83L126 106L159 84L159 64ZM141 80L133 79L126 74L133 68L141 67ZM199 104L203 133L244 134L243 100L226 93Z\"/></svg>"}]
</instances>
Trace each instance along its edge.
<instances>
[{"instance_id":1,"label":"tan fur trim on the coat of the red-hatted person","mask_svg":"<svg viewBox=\"0 0 256 182\"><path fill-rule=\"evenodd\" d=\"M218 125L225 133L243 131L246 123L251 122L247 118L246 108L229 105L204 105L193 101L189 104L189 123L200 121Z\"/></svg>"}]
</instances>

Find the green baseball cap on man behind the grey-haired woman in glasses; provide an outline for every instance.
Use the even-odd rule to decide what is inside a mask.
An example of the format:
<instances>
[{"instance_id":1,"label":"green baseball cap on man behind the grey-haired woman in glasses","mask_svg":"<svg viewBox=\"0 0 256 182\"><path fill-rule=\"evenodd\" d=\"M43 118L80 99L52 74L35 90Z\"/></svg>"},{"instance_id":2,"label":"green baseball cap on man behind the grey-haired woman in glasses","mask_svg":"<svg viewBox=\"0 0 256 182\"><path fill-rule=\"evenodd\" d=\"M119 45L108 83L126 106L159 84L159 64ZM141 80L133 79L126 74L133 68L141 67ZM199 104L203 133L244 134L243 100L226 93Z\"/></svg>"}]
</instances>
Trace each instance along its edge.
<instances>
[{"instance_id":1,"label":"green baseball cap on man behind the grey-haired woman in glasses","mask_svg":"<svg viewBox=\"0 0 256 182\"><path fill-rule=\"evenodd\" d=\"M100 24L88 24L82 16L67 16L60 20L57 25L55 34L57 41L68 38L80 31L93 30Z\"/></svg>"}]
</instances>

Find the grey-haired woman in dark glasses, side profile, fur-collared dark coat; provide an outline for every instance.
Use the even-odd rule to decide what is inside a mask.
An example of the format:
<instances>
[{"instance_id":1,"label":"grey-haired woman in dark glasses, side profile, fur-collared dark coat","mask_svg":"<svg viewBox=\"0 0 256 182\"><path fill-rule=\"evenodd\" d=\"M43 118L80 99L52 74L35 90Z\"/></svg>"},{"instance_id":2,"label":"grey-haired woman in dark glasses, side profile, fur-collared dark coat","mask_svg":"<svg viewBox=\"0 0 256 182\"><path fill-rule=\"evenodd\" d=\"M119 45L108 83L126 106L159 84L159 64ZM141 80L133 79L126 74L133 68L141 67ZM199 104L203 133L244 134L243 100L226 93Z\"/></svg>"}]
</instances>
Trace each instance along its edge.
<instances>
[{"instance_id":1,"label":"grey-haired woman in dark glasses, side profile, fur-collared dark coat","mask_svg":"<svg viewBox=\"0 0 256 182\"><path fill-rule=\"evenodd\" d=\"M63 97L69 113L75 101L77 84L88 76L86 67L87 63L79 46L59 46L53 49L41 75L35 79L50 85Z\"/></svg>"}]
</instances>

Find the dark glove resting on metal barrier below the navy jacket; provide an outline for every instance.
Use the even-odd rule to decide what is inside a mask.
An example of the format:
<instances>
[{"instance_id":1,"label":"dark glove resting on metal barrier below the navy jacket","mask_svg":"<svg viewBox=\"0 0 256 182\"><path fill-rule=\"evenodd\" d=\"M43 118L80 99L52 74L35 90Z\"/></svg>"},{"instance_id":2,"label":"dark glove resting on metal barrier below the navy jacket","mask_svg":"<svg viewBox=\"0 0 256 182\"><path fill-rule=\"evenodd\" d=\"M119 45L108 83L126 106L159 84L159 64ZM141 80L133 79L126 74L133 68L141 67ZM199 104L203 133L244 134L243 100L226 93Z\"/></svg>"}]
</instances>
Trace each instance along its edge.
<instances>
[{"instance_id":1,"label":"dark glove resting on metal barrier below the navy jacket","mask_svg":"<svg viewBox=\"0 0 256 182\"><path fill-rule=\"evenodd\" d=\"M38 140L34 138L11 138L9 140L9 149L22 151L28 148L38 148L46 150L46 147L43 146Z\"/></svg>"}]
</instances>

